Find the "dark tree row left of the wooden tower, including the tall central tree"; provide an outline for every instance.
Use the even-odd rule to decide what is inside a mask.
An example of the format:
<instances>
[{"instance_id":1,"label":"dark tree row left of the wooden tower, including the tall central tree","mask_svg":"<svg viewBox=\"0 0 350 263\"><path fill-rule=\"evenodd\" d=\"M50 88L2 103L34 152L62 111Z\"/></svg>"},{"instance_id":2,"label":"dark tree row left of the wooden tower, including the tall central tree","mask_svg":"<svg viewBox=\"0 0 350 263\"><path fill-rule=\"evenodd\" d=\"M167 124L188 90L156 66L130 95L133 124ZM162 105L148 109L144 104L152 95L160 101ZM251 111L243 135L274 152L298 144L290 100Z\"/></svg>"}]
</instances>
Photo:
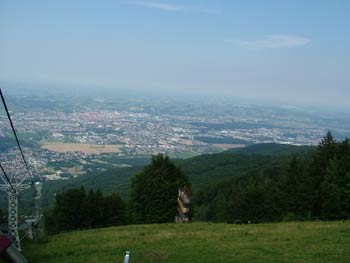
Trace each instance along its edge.
<instances>
[{"instance_id":1,"label":"dark tree row left of the wooden tower, including the tall central tree","mask_svg":"<svg viewBox=\"0 0 350 263\"><path fill-rule=\"evenodd\" d=\"M179 187L188 186L187 176L167 156L153 156L150 165L131 183L128 203L118 194L104 197L100 190L70 189L56 195L46 215L49 233L132 223L173 222Z\"/></svg>"}]
</instances>

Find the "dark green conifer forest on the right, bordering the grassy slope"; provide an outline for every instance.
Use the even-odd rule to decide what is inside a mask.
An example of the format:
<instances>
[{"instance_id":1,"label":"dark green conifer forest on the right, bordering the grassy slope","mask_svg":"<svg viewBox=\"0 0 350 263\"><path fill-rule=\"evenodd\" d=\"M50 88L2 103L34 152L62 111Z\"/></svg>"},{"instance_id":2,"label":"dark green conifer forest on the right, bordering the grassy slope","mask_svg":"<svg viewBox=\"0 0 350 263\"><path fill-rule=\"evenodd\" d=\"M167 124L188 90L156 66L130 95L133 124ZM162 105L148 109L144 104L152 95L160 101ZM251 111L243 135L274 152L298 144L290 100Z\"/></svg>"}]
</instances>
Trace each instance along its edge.
<instances>
[{"instance_id":1,"label":"dark green conifer forest on the right, bordering the grassy slope","mask_svg":"<svg viewBox=\"0 0 350 263\"><path fill-rule=\"evenodd\" d=\"M350 215L349 140L337 142L328 133L315 151L287 156L201 189L194 196L194 206L197 220L347 217Z\"/></svg>"}]
</instances>

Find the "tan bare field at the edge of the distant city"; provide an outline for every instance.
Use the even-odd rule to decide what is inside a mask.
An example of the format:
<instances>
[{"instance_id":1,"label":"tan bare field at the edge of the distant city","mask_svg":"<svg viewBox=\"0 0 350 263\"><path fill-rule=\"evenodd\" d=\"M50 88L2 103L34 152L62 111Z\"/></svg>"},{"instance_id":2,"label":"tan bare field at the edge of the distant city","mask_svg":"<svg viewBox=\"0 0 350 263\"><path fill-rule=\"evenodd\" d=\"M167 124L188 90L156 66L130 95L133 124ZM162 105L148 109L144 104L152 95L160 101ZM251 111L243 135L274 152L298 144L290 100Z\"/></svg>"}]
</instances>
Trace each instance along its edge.
<instances>
[{"instance_id":1,"label":"tan bare field at the edge of the distant city","mask_svg":"<svg viewBox=\"0 0 350 263\"><path fill-rule=\"evenodd\" d=\"M117 144L90 144L90 143L64 143L64 142L44 142L41 146L53 152L83 152L86 154L120 153Z\"/></svg>"}]
</instances>

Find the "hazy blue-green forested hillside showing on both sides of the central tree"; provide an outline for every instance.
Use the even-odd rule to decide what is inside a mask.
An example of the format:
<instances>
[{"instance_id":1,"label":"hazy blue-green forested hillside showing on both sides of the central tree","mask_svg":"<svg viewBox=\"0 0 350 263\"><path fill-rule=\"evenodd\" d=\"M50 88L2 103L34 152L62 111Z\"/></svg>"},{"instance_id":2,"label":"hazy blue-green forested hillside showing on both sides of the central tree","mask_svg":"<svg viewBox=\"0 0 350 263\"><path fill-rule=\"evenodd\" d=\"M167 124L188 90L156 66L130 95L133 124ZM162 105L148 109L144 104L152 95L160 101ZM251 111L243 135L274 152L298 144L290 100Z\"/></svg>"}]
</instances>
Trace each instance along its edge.
<instances>
[{"instance_id":1,"label":"hazy blue-green forested hillside showing on both sides of the central tree","mask_svg":"<svg viewBox=\"0 0 350 263\"><path fill-rule=\"evenodd\" d=\"M280 152L280 155L276 154ZM286 165L291 152L304 152L312 147L291 145L261 144L244 149L243 153L225 151L217 154L205 154L193 158L175 160L188 174L192 189L197 191L205 186L215 185L222 180L239 177L249 170L263 169L280 164ZM245 153L249 153L246 155ZM274 153L271 155L271 153ZM50 181L44 184L42 205L48 206L54 200L54 194L67 189L84 186L85 189L101 189L104 193L117 192L128 199L132 177L143 167L134 165L131 168L118 168L100 174L80 176L74 179Z\"/></svg>"}]
</instances>

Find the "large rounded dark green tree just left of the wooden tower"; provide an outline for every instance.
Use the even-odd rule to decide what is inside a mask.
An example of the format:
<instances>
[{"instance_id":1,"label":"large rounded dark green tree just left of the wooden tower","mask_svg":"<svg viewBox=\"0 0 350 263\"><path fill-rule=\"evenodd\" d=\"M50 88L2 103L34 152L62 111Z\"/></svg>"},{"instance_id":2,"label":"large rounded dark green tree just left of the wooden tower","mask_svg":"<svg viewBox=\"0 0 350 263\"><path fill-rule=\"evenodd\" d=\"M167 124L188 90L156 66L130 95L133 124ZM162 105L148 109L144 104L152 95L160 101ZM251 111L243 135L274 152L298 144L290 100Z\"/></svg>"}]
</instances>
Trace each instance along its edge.
<instances>
[{"instance_id":1,"label":"large rounded dark green tree just left of the wooden tower","mask_svg":"<svg viewBox=\"0 0 350 263\"><path fill-rule=\"evenodd\" d=\"M179 187L189 186L187 176L164 155L153 156L132 180L130 217L134 223L174 221Z\"/></svg>"}]
</instances>

